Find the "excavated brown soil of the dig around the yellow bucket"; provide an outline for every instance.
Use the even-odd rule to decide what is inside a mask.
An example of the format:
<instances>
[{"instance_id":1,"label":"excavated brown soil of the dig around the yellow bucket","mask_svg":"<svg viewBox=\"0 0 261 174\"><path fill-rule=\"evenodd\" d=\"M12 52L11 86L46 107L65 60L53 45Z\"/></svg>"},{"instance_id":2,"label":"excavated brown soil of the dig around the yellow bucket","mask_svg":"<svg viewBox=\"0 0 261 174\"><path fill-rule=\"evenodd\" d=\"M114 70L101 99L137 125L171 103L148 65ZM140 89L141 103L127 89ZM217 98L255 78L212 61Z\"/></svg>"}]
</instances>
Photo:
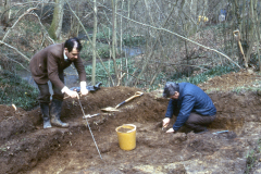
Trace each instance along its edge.
<instances>
[{"instance_id":1,"label":"excavated brown soil of the dig around the yellow bucket","mask_svg":"<svg viewBox=\"0 0 261 174\"><path fill-rule=\"evenodd\" d=\"M259 91L213 91L246 83L258 88L256 79L259 79L257 74L243 71L199 85L211 91L209 96L217 109L216 120L203 134L189 133L186 127L176 134L162 130L169 101L160 97L162 90L145 92L121 105L120 111L102 112L102 108L115 107L140 89L101 87L80 98L86 115L101 113L88 119L101 156L77 99L63 102L61 120L70 123L70 128L42 129L39 109L15 111L0 105L0 173L240 174L251 163L251 158L246 158L251 150L257 160L250 173L261 173ZM115 128L123 124L137 126L134 150L119 147ZM219 130L228 132L213 134Z\"/></svg>"}]
</instances>

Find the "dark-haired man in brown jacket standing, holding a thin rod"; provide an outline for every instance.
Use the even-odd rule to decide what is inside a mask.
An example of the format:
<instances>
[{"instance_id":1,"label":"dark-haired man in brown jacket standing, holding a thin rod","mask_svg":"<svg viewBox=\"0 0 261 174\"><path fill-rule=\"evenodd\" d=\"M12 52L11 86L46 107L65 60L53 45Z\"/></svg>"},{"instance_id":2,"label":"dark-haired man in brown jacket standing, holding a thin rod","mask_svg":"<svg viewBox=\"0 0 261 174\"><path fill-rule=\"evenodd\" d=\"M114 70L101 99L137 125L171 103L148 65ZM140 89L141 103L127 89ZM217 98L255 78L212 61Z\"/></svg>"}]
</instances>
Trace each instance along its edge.
<instances>
[{"instance_id":1,"label":"dark-haired man in brown jacket standing, holding a thin rod","mask_svg":"<svg viewBox=\"0 0 261 174\"><path fill-rule=\"evenodd\" d=\"M70 90L64 85L63 70L74 63L79 76L80 94L87 95L86 73L79 58L82 45L78 38L67 39L64 44L55 44L37 52L29 62L32 76L36 82L40 94L39 103L42 113L44 128L50 128L51 124L60 127L69 127L67 123L60 120L64 94L72 98L78 98L76 91ZM48 80L52 84L52 101Z\"/></svg>"}]
</instances>

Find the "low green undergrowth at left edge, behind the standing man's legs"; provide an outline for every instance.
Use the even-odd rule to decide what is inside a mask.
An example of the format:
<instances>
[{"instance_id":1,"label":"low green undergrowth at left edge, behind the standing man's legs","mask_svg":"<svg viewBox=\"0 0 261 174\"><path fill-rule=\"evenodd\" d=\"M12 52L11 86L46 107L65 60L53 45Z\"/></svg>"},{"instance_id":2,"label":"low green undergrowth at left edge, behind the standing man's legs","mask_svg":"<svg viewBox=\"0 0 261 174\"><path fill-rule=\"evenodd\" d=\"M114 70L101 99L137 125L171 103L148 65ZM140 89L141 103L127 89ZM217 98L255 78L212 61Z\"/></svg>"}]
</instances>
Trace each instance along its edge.
<instances>
[{"instance_id":1,"label":"low green undergrowth at left edge, behind the standing man's legs","mask_svg":"<svg viewBox=\"0 0 261 174\"><path fill-rule=\"evenodd\" d=\"M30 86L18 75L9 71L0 71L0 104L15 104L29 110L38 104L38 89Z\"/></svg>"}]
</instances>

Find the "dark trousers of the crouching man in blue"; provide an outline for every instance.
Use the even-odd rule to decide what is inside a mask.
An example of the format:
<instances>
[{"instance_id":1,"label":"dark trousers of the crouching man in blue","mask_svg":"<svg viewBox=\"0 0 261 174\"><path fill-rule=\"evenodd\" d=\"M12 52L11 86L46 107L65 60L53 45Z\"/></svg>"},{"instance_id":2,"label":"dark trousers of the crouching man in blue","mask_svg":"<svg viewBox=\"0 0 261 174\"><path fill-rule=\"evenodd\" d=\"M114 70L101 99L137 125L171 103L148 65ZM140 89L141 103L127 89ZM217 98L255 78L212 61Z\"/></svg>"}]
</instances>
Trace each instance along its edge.
<instances>
[{"instance_id":1,"label":"dark trousers of the crouching man in blue","mask_svg":"<svg viewBox=\"0 0 261 174\"><path fill-rule=\"evenodd\" d=\"M188 128L194 129L195 132L202 132L207 126L212 123L215 119L215 115L204 116L198 113L191 112L185 125Z\"/></svg>"}]
</instances>

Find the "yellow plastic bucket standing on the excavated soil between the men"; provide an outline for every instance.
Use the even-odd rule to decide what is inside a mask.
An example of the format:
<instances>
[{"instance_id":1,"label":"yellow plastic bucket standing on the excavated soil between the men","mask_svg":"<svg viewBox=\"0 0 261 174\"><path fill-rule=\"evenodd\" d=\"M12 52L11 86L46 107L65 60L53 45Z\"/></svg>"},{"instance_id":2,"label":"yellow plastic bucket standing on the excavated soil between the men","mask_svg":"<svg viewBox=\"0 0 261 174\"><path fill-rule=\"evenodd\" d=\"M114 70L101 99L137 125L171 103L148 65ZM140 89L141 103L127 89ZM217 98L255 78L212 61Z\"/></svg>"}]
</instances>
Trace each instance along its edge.
<instances>
[{"instance_id":1,"label":"yellow plastic bucket standing on the excavated soil between the men","mask_svg":"<svg viewBox=\"0 0 261 174\"><path fill-rule=\"evenodd\" d=\"M116 127L120 148L123 150L133 150L136 147L136 126L134 124L124 124Z\"/></svg>"}]
</instances>

